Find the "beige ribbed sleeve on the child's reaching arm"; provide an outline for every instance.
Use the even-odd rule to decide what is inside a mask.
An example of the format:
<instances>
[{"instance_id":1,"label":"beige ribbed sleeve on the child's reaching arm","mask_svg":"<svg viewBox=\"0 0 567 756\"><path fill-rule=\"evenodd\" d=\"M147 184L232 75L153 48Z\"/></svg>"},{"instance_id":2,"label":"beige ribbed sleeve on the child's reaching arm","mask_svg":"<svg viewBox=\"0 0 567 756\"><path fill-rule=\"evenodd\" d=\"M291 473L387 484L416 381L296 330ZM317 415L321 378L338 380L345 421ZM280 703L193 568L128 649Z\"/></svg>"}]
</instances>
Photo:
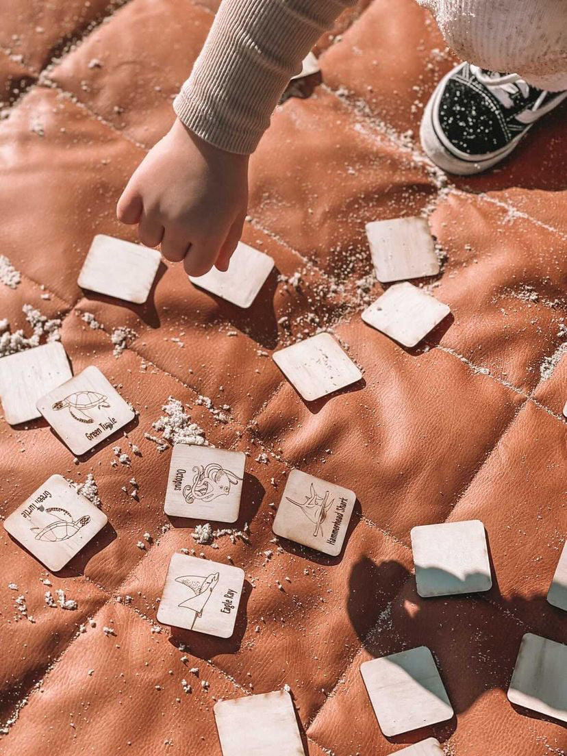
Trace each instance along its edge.
<instances>
[{"instance_id":1,"label":"beige ribbed sleeve on the child's reaching arm","mask_svg":"<svg viewBox=\"0 0 567 756\"><path fill-rule=\"evenodd\" d=\"M173 102L178 118L215 147L252 153L302 60L356 0L222 0L191 76Z\"/></svg>"}]
</instances>

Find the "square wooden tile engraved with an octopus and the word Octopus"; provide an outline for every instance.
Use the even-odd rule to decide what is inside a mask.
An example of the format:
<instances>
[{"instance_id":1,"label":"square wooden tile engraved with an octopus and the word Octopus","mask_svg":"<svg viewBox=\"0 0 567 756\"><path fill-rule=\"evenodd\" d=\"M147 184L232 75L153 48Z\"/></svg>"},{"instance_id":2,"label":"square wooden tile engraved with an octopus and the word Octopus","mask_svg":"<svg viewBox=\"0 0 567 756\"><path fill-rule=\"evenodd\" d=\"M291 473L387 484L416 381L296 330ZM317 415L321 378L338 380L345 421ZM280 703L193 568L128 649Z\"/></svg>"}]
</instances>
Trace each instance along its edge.
<instances>
[{"instance_id":1,"label":"square wooden tile engraved with an octopus and the word Octopus","mask_svg":"<svg viewBox=\"0 0 567 756\"><path fill-rule=\"evenodd\" d=\"M166 514L236 522L245 461L242 451L176 444L169 465Z\"/></svg>"}]
</instances>

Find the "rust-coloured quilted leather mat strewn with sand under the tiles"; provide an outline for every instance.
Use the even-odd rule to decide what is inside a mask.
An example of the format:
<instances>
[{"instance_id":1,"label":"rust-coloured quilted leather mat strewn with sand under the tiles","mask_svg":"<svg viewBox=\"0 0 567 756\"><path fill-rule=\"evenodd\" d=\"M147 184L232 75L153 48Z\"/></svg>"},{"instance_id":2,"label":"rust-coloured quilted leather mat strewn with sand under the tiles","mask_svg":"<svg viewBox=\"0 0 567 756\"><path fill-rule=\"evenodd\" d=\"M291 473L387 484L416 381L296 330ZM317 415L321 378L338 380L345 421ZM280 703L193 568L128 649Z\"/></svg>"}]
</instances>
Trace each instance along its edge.
<instances>
[{"instance_id":1,"label":"rust-coloured quilted leather mat strewn with sand under the tiles","mask_svg":"<svg viewBox=\"0 0 567 756\"><path fill-rule=\"evenodd\" d=\"M221 756L215 702L289 685L306 756L432 736L446 756L565 756L565 727L506 691L525 633L567 640L546 601L567 531L567 110L494 172L443 174L417 132L454 57L413 0L361 0L318 43L321 84L278 107L251 161L243 240L274 259L252 307L165 263L144 305L83 291L95 234L136 240L116 200L172 123L217 7L0 2L0 254L20 272L0 281L0 321L28 337L26 305L60 321L73 372L97 365L136 411L79 459L44 420L0 417L2 517L57 472L94 481L109 520L57 574L0 531L0 753ZM417 283L451 316L403 349L361 321L383 292L364 225L419 214L444 262ZM271 355L320 330L363 378L305 402ZM163 512L171 448L153 424L169 397L246 454L239 519L209 543ZM294 467L357 495L337 557L271 530ZM493 587L420 598L411 528L463 519L485 524ZM244 570L231 638L157 624L179 550ZM361 662L420 645L455 716L386 739Z\"/></svg>"}]
</instances>

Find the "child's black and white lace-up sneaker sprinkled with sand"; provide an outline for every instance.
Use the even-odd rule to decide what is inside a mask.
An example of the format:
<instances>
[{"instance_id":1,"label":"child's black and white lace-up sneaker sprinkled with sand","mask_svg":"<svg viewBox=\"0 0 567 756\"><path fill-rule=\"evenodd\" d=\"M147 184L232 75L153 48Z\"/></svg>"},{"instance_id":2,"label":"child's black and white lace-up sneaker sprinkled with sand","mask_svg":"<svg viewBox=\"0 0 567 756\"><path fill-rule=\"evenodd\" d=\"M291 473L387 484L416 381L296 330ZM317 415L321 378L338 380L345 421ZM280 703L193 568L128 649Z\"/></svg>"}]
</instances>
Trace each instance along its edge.
<instances>
[{"instance_id":1,"label":"child's black and white lace-up sneaker sprinkled with sand","mask_svg":"<svg viewBox=\"0 0 567 756\"><path fill-rule=\"evenodd\" d=\"M438 83L421 122L423 150L448 173L481 173L509 155L531 126L567 97L567 91L531 87L462 63Z\"/></svg>"}]
</instances>

